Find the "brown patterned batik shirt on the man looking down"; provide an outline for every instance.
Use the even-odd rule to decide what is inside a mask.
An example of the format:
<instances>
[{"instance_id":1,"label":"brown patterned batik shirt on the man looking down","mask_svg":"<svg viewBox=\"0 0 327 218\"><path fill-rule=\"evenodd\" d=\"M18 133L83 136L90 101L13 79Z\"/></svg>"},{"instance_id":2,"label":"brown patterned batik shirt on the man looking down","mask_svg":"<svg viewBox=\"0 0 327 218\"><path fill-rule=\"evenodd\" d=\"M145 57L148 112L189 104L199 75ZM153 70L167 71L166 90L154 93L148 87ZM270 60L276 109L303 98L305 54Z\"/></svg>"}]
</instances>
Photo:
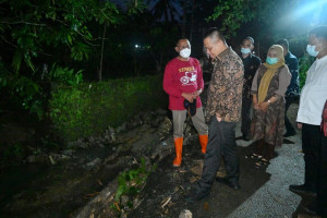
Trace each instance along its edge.
<instances>
[{"instance_id":1,"label":"brown patterned batik shirt on the man looking down","mask_svg":"<svg viewBox=\"0 0 327 218\"><path fill-rule=\"evenodd\" d=\"M244 68L241 58L229 47L214 61L208 88L207 119L221 117L238 122L241 117Z\"/></svg>"}]
</instances>

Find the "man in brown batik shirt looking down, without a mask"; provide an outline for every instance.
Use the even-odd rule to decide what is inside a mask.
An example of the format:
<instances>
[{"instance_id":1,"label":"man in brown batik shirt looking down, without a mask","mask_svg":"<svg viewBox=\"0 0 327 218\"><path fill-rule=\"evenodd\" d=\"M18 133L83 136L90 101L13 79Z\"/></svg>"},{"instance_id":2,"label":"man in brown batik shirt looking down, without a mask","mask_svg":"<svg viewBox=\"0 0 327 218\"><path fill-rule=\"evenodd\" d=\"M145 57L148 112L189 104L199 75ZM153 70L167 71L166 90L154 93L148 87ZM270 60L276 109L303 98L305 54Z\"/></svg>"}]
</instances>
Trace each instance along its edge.
<instances>
[{"instance_id":1,"label":"man in brown batik shirt looking down, without a mask","mask_svg":"<svg viewBox=\"0 0 327 218\"><path fill-rule=\"evenodd\" d=\"M209 194L221 156L227 177L217 181L233 190L240 189L235 124L241 117L243 63L241 58L228 47L223 35L217 28L210 28L206 33L204 46L215 64L206 108L209 140L202 178L186 196L186 202L199 201Z\"/></svg>"}]
</instances>

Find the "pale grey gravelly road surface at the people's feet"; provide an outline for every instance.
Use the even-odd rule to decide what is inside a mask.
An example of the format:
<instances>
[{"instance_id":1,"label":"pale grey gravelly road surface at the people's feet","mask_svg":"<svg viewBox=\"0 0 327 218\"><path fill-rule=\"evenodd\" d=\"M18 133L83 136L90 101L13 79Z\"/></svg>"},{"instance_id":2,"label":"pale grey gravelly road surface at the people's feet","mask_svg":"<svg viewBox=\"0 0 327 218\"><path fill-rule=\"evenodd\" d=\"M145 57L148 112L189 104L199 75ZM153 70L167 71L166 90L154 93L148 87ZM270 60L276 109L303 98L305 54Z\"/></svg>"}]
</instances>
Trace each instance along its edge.
<instances>
[{"instance_id":1,"label":"pale grey gravelly road surface at the people's feet","mask_svg":"<svg viewBox=\"0 0 327 218\"><path fill-rule=\"evenodd\" d=\"M289 137L289 143L276 149L278 157L270 161L266 172L270 179L251 197L234 209L229 218L240 217L294 217L301 196L288 190L290 184L301 184L304 175L301 133ZM243 143L244 144L244 143Z\"/></svg>"}]
</instances>

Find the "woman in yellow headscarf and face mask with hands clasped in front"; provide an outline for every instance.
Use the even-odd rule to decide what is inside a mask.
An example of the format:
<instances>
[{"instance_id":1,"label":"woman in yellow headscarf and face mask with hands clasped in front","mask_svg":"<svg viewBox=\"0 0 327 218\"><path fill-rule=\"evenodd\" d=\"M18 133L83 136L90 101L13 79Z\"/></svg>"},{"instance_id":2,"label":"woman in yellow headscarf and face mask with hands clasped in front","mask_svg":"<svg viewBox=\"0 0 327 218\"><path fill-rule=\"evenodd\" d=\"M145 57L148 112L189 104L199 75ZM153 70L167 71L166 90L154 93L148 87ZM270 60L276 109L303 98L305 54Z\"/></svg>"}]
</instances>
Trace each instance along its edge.
<instances>
[{"instance_id":1,"label":"woman in yellow headscarf and face mask with hands clasped in front","mask_svg":"<svg viewBox=\"0 0 327 218\"><path fill-rule=\"evenodd\" d=\"M252 136L256 149L252 157L258 158L257 166L267 164L275 147L283 142L284 94L291 81L291 73L284 63L283 49L279 45L269 48L252 83L254 119Z\"/></svg>"}]
</instances>

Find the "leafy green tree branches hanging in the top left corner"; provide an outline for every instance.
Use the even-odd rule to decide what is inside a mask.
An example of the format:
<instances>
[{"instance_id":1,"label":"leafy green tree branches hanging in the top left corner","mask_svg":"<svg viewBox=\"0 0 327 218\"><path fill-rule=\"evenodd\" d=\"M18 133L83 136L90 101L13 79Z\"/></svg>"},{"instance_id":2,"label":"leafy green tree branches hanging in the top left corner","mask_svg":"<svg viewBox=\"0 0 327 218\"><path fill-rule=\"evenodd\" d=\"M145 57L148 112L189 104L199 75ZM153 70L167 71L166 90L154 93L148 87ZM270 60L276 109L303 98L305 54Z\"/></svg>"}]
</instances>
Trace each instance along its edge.
<instances>
[{"instance_id":1,"label":"leafy green tree branches hanging in the top left corner","mask_svg":"<svg viewBox=\"0 0 327 218\"><path fill-rule=\"evenodd\" d=\"M0 33L2 39L15 47L12 66L20 71L22 63L35 71L36 58L49 52L46 48L68 48L73 60L87 60L92 52L94 33L89 23L116 25L122 16L109 1L32 1L1 2ZM10 13L4 13L9 10ZM51 55L50 55L51 56Z\"/></svg>"}]
</instances>

